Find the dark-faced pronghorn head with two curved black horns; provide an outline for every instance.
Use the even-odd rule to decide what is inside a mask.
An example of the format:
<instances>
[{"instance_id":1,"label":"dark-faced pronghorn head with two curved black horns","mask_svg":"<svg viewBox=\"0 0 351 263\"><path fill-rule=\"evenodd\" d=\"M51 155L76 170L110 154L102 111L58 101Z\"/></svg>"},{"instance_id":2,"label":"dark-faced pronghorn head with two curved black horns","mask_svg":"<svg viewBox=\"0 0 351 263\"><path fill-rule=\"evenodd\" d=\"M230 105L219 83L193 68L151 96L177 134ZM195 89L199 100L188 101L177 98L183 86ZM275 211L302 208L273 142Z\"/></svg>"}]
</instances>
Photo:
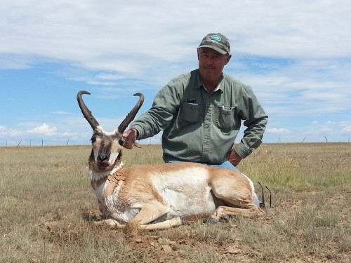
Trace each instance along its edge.
<instances>
[{"instance_id":1,"label":"dark-faced pronghorn head with two curved black horns","mask_svg":"<svg viewBox=\"0 0 351 263\"><path fill-rule=\"evenodd\" d=\"M77 94L77 101L81 113L93 129L93 136L91 137L91 155L89 156L89 168L94 172L108 172L121 166L121 150L125 142L122 136L124 130L128 127L129 123L133 121L135 115L138 113L140 107L144 102L144 95L135 93L134 96L139 96L138 102L135 104L131 112L129 112L124 121L119 124L118 128L112 133L107 133L102 129L98 121L94 118L91 111L86 107L81 95L88 94L86 90L81 90Z\"/></svg>"}]
</instances>

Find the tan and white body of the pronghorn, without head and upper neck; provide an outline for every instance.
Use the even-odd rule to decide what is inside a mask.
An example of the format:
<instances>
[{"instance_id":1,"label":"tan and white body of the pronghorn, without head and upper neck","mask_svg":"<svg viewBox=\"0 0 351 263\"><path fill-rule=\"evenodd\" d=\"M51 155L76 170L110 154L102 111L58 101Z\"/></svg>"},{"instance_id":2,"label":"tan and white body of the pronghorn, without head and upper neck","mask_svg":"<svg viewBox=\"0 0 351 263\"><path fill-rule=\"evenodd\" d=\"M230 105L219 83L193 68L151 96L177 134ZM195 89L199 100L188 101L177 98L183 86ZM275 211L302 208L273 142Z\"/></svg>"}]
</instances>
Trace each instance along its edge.
<instances>
[{"instance_id":1,"label":"tan and white body of the pronghorn, without head and upper neck","mask_svg":"<svg viewBox=\"0 0 351 263\"><path fill-rule=\"evenodd\" d=\"M253 189L247 177L238 171L199 163L119 168L98 182L91 182L91 185L97 194L101 212L108 218L98 224L118 228L130 224L138 229L164 229L181 224L180 216L191 218L201 213L211 215L216 222L225 215L264 215L264 211L252 203ZM101 193L97 191L100 187L103 187ZM208 193L204 187L208 187ZM166 191L184 195L184 200L197 210L192 213L192 210L186 211L188 205L172 204L172 198L166 196ZM206 198L206 194L210 197ZM197 200L199 203L196 203ZM208 203L213 203L213 209L208 208ZM177 215L178 211L172 210L173 205L180 205L184 211ZM202 206L204 210L201 210ZM128 211L133 209L135 215L129 215Z\"/></svg>"}]
</instances>

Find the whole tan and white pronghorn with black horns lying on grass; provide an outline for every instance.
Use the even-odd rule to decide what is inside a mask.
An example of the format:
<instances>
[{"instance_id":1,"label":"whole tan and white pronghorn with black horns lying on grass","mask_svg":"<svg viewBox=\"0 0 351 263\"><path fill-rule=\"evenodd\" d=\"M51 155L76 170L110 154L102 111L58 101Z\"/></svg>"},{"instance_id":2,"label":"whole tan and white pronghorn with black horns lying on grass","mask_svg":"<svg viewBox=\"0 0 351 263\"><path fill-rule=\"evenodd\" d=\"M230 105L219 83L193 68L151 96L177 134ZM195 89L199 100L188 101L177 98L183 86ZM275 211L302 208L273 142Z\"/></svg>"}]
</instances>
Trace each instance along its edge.
<instances>
[{"instance_id":1,"label":"whole tan and white pronghorn with black horns lying on grass","mask_svg":"<svg viewBox=\"0 0 351 263\"><path fill-rule=\"evenodd\" d=\"M161 163L123 167L122 133L134 119L143 94L117 130L107 133L82 100L77 100L84 118L93 128L88 159L91 186L109 224L123 228L166 229L182 224L182 219L208 215L218 222L228 215L264 215L253 203L257 198L253 182L239 171L200 163Z\"/></svg>"}]
</instances>

